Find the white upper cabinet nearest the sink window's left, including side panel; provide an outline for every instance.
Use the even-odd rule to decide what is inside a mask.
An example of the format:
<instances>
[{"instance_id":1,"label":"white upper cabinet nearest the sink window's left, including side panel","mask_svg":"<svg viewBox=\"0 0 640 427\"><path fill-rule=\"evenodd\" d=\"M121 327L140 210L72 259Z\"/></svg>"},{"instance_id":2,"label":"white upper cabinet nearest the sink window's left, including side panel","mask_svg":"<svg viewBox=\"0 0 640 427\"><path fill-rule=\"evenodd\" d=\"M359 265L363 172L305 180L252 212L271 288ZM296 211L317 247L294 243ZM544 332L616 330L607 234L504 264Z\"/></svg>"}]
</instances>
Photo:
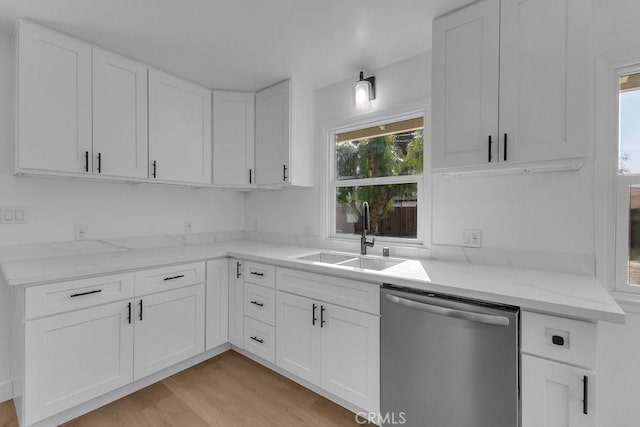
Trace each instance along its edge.
<instances>
[{"instance_id":1,"label":"white upper cabinet nearest the sink window's left, including side panel","mask_svg":"<svg viewBox=\"0 0 640 427\"><path fill-rule=\"evenodd\" d=\"M256 181L268 186L313 186L310 88L286 80L256 94Z\"/></svg>"}]
</instances>

